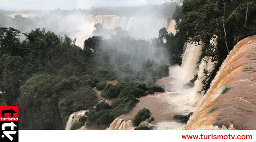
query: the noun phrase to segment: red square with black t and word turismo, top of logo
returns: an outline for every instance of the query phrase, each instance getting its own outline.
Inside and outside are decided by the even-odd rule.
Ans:
[[[0,106],[0,121],[19,121],[19,106]]]

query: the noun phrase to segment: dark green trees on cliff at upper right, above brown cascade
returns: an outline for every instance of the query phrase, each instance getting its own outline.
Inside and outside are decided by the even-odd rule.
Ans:
[[[177,10],[179,11],[179,10]],[[177,24],[183,42],[203,43],[198,64],[205,57],[216,62],[202,80],[205,94],[222,62],[240,40],[256,34],[255,0],[183,0]],[[250,29],[250,30],[249,30]],[[216,45],[210,43],[216,40]]]

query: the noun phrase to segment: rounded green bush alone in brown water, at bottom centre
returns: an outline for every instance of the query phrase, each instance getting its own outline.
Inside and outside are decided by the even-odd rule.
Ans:
[[[148,109],[146,109],[146,108],[143,108],[133,118],[133,125],[134,126],[138,126],[142,121],[145,121],[150,116],[151,116],[150,111]]]

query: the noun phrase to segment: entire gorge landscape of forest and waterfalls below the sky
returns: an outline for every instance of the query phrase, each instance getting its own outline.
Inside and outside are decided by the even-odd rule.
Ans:
[[[24,130],[256,130],[255,1],[181,1],[0,10],[0,105]]]

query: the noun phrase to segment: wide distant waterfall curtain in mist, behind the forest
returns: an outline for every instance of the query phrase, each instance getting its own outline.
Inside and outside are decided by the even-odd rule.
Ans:
[[[169,29],[169,32],[172,32],[173,34],[176,33],[174,28],[176,24],[175,21],[169,21],[168,18],[159,19],[151,16],[121,17],[116,15],[87,15],[86,21],[93,24],[101,23],[103,28],[106,29],[122,27],[123,30],[130,31],[130,36],[138,38],[151,39],[158,37],[158,32],[161,28]]]

